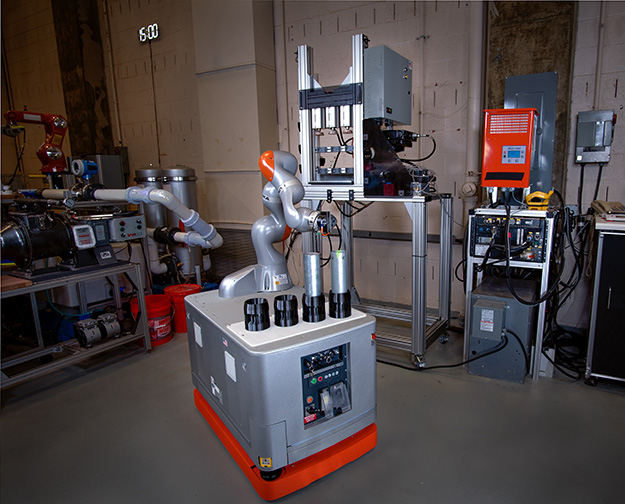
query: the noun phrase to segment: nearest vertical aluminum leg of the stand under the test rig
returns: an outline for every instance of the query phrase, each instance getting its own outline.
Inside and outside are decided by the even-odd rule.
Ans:
[[[427,207],[419,196],[406,203],[412,217],[412,343],[411,353],[417,365],[423,365],[426,347],[427,307]]]

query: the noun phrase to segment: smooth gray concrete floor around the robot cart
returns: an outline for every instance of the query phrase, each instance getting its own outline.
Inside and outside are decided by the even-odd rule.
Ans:
[[[452,334],[427,363],[461,354]],[[3,391],[2,504],[264,502],[193,405],[186,337]],[[378,445],[279,502],[620,503],[625,387],[377,365]]]

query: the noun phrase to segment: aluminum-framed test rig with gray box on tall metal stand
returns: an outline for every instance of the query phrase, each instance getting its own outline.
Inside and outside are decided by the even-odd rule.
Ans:
[[[364,34],[352,35],[351,67],[338,85],[322,86],[313,68],[313,48],[298,47],[298,107],[301,181],[305,204],[342,202],[341,241],[347,259],[347,284],[359,309],[412,323],[410,338],[379,334],[378,344],[410,352],[415,366],[448,327],[451,291],[453,198],[438,193],[435,174],[421,163],[436,151],[428,134],[402,129],[412,115],[412,62],[386,46],[370,46]],[[419,159],[399,154],[423,142]],[[431,146],[431,147],[428,147]],[[427,315],[427,203],[441,205],[439,306]],[[412,302],[409,310],[359,304],[354,285],[352,201],[403,203],[412,220]],[[304,251],[318,250],[304,240]]]

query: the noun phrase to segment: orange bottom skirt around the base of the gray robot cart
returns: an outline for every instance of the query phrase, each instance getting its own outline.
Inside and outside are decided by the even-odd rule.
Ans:
[[[234,458],[247,479],[250,480],[258,495],[268,501],[279,499],[300,488],[304,488],[313,481],[323,478],[327,474],[356,460],[372,450],[377,444],[378,429],[375,424],[371,424],[334,446],[330,446],[294,464],[288,464],[284,467],[280,477],[267,481],[261,477],[260,470],[202,397],[202,394],[195,389],[193,396],[195,398],[195,406],[212,427],[228,452],[230,452],[230,455]]]

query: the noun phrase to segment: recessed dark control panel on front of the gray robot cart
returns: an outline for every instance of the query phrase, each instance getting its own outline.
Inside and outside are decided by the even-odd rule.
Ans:
[[[302,357],[304,425],[345,413],[351,409],[348,345],[340,345]]]

